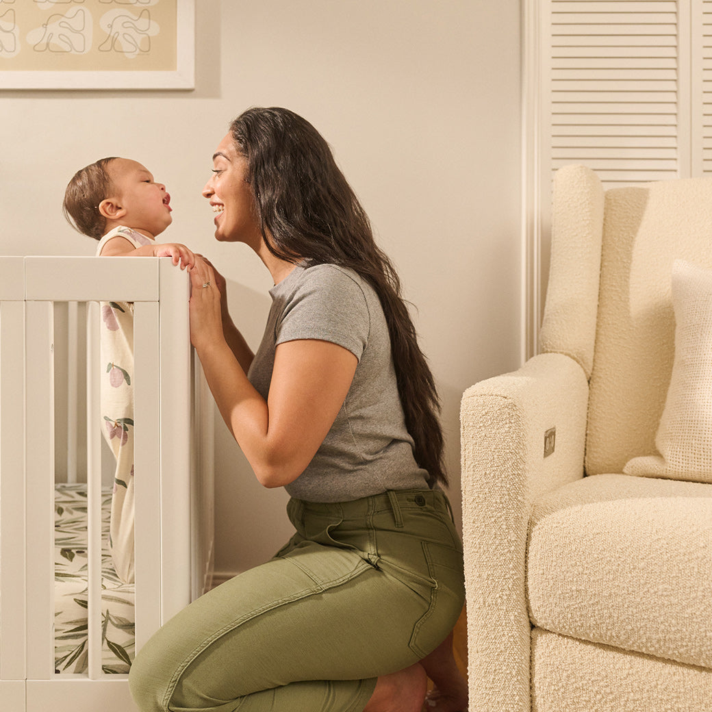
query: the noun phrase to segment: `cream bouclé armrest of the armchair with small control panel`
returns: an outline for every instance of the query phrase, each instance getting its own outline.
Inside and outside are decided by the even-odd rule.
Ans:
[[[525,595],[534,498],[583,476],[588,382],[562,354],[479,382],[461,404],[471,711],[530,709]],[[553,452],[545,456],[545,441]]]

